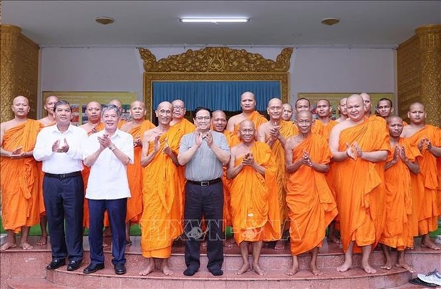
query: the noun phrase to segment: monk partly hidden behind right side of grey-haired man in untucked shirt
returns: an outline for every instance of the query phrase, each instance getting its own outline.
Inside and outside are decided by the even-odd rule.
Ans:
[[[130,104],[130,115],[132,120],[121,126],[123,132],[128,132],[133,137],[134,163],[127,164],[127,177],[129,179],[130,194],[132,197],[127,199],[126,216],[126,243],[131,244],[130,224],[139,223],[142,216],[142,166],[141,150],[144,132],[154,128],[154,124],[149,120],[144,120],[146,110],[144,103],[135,100]]]

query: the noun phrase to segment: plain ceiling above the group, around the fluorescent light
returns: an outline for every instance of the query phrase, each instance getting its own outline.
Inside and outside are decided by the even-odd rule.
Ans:
[[[3,23],[41,46],[396,46],[441,23],[441,1],[1,1]],[[115,19],[112,25],[97,16]],[[181,23],[246,16],[249,23]],[[324,26],[326,17],[338,17]]]

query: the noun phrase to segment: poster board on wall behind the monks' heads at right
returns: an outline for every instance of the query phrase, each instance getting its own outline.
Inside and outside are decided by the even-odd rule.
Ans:
[[[337,110],[337,105],[339,105],[339,101],[341,98],[347,98],[349,95],[352,95],[354,93],[297,93],[297,99],[299,98],[307,98],[311,102],[311,112],[314,118],[318,119],[319,116],[316,113],[316,105],[317,100],[320,100],[322,98],[326,98],[326,100],[329,100],[332,106],[332,114],[331,119],[336,120],[339,118],[339,112]],[[395,96],[393,93],[368,93],[371,95],[372,100],[372,110],[371,113],[375,114],[375,107],[378,103],[378,100],[381,100],[381,98],[388,98],[392,100],[392,103],[395,104]]]

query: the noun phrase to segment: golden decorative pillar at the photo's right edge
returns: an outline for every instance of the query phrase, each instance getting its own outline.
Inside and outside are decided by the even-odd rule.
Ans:
[[[427,123],[441,126],[441,24],[417,28],[420,44],[421,100]]]

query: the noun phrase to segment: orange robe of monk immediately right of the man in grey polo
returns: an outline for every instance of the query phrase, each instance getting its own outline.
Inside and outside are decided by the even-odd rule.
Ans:
[[[231,215],[238,244],[281,237],[275,157],[264,142],[255,142],[251,152],[255,162],[265,168],[265,177],[245,166],[231,182]],[[236,159],[235,165],[242,159]]]

